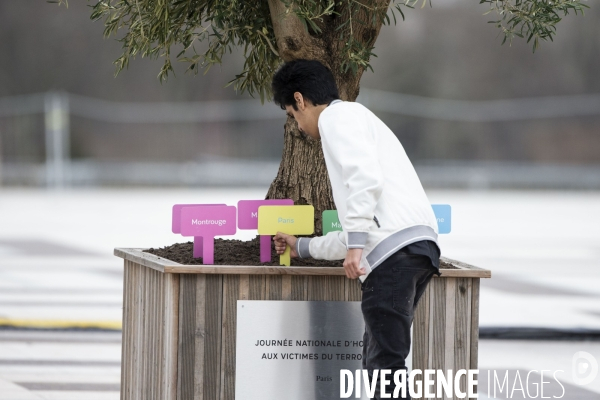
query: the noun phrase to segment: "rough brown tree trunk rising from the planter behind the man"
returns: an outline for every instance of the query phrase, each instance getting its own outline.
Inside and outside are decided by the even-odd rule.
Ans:
[[[371,3],[387,9],[389,0]],[[326,17],[320,25],[320,34],[308,32],[302,22],[293,14],[286,14],[282,0],[269,0],[271,18],[277,49],[284,61],[312,59],[329,67],[336,80],[340,97],[345,101],[355,101],[358,97],[360,78],[363,69],[356,74],[350,70],[341,72],[343,41],[335,31],[341,21],[348,18],[350,10],[340,8],[339,15]],[[373,46],[381,23],[374,26],[358,26],[352,36],[368,46]],[[282,112],[283,115],[283,112]],[[283,155],[277,177],[271,183],[267,199],[288,198],[295,204],[311,204],[315,207],[315,234],[322,234],[322,213],[334,210],[331,183],[321,148],[321,141],[300,133],[296,121],[289,118],[284,125]]]

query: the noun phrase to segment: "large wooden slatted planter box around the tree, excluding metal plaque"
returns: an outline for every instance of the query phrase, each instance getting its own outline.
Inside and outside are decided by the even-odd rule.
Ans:
[[[237,300],[360,301],[343,268],[182,265],[115,249],[125,260],[122,400],[233,400]],[[476,369],[479,279],[442,259],[413,325],[413,369]],[[464,377],[463,377],[464,378]]]

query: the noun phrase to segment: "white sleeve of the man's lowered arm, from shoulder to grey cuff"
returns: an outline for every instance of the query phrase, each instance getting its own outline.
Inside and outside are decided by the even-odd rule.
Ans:
[[[363,112],[340,113],[332,109],[319,118],[323,150],[342,169],[350,194],[342,222],[348,249],[365,247],[374,224],[375,207],[383,191],[383,173],[375,138]]]

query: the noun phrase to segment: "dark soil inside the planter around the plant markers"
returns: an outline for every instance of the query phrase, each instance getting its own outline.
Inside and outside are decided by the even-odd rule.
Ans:
[[[175,243],[159,249],[148,249],[146,253],[175,261],[179,264],[202,265],[202,258],[193,257],[193,242]],[[292,258],[293,267],[341,267],[343,260],[327,261],[312,258]],[[259,236],[244,242],[235,239],[215,239],[215,265],[269,265],[279,266],[279,255],[271,247],[271,262],[260,262]],[[440,268],[454,269],[451,264],[440,260]]]

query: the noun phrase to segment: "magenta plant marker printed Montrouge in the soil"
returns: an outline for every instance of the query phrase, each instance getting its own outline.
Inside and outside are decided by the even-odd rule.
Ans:
[[[181,234],[202,237],[202,263],[214,264],[215,236],[235,235],[236,208],[234,206],[191,206],[181,209]],[[196,245],[194,240],[194,246]],[[194,249],[194,254],[198,249]]]

